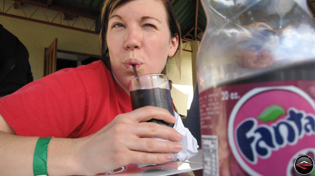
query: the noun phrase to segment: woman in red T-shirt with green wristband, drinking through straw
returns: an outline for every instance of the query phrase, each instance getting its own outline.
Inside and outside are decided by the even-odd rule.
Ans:
[[[96,175],[129,163],[167,163],[167,153],[181,150],[173,128],[139,123],[175,118],[151,106],[131,111],[128,90],[133,64],[139,75],[162,72],[181,51],[170,2],[107,0],[102,16],[102,55],[107,46],[111,71],[101,61],[64,69],[0,99],[0,175]],[[45,159],[37,163],[44,145],[32,136],[55,137],[45,143],[47,169]]]

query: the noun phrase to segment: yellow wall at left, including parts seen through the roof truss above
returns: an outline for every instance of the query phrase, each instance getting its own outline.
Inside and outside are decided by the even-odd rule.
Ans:
[[[12,15],[31,17],[42,21],[60,24],[72,25],[75,20],[66,21],[60,18],[59,12],[45,8],[37,9],[36,6],[24,4],[22,9],[14,9],[12,7],[14,1],[0,0],[1,11]],[[4,9],[3,9],[3,4]],[[44,11],[44,13],[43,13]],[[56,18],[55,18],[56,17]],[[47,19],[46,19],[47,18]],[[61,20],[60,20],[61,19]],[[94,20],[84,19],[87,26],[92,26]],[[66,51],[81,52],[87,54],[100,55],[99,38],[96,34],[80,32],[72,29],[55,27],[47,24],[14,19],[10,17],[0,16],[0,24],[17,36],[19,40],[26,46],[29,52],[29,61],[34,80],[43,77],[44,70],[44,49],[49,47],[55,38],[58,38],[58,49]],[[80,17],[73,27],[82,28],[84,26]]]

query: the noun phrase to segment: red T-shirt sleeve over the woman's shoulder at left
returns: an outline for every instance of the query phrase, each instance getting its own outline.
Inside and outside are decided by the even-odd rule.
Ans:
[[[20,136],[67,137],[84,121],[86,93],[73,71],[36,80],[0,99],[0,114]]]

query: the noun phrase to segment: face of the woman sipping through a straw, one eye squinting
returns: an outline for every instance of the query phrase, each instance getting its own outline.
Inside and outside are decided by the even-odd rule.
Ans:
[[[106,41],[112,73],[129,93],[129,80],[138,75],[161,73],[168,56],[173,56],[178,36],[171,40],[167,15],[160,0],[131,0],[110,15]]]

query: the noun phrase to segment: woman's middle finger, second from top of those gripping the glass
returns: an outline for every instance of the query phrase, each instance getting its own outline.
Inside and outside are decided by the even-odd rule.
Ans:
[[[183,138],[183,136],[174,128],[153,122],[137,124],[137,126],[133,129],[133,132],[136,136],[140,137],[159,137],[170,141],[180,141]]]

